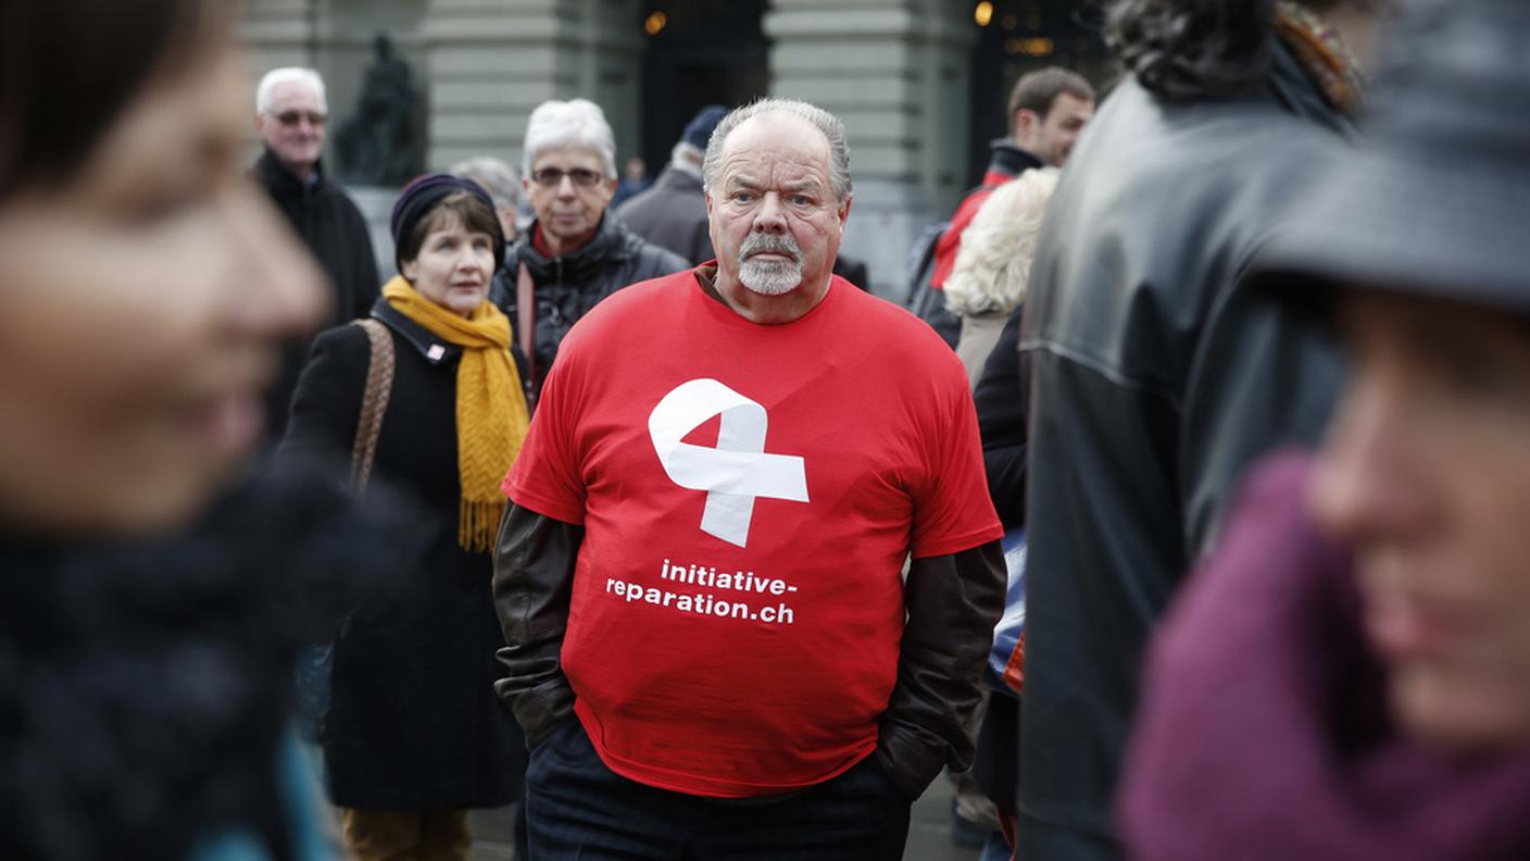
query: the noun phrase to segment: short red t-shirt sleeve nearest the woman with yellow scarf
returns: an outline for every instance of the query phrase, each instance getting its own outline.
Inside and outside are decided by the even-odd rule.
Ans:
[[[526,443],[502,490],[509,501],[557,521],[584,524],[584,476],[578,457],[578,362],[565,351],[542,385]]]

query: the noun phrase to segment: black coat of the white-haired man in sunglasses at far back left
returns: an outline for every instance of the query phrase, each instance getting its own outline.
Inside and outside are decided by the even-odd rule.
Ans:
[[[335,288],[329,325],[338,326],[367,316],[381,282],[372,256],[372,234],[361,210],[324,178],[321,167],[315,170],[318,179],[304,184],[266,150],[256,162],[254,176],[329,276]],[[288,404],[311,343],[311,339],[297,339],[283,349],[280,375],[266,394],[266,434],[271,440],[280,440],[286,427]]]

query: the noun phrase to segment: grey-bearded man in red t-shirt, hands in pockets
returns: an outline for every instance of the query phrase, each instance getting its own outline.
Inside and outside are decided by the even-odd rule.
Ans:
[[[704,173],[718,260],[574,326],[505,481],[531,853],[895,859],[1004,604],[965,375],[831,274],[838,119],[734,110]]]

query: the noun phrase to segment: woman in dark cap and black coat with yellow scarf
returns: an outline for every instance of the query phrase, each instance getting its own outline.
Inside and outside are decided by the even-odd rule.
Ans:
[[[419,562],[341,627],[321,742],[361,861],[465,859],[467,810],[517,800],[525,771],[525,742],[494,694],[503,640],[490,550],[528,412],[509,322],[488,302],[505,248],[488,193],[422,176],[399,196],[392,228],[399,274],[372,319],[395,369],[370,484],[418,506],[418,533],[399,538]],[[370,357],[356,325],[315,340],[283,457],[352,457]]]

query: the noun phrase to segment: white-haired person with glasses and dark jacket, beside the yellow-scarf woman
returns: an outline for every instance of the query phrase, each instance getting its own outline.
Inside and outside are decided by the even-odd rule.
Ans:
[[[600,106],[545,101],[526,123],[522,187],[536,221],[505,256],[491,299],[531,365],[532,398],[575,320],[617,290],[688,268],[606,210],[617,193],[617,141]]]

